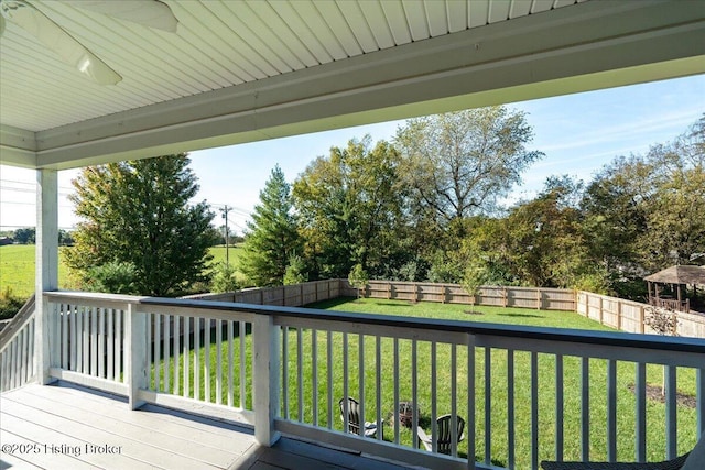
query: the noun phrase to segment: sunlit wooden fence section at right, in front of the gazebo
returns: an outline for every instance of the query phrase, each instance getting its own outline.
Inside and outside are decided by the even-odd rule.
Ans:
[[[585,317],[628,332],[654,334],[644,323],[649,305],[579,291],[576,311]],[[679,336],[705,338],[705,315],[676,311]]]

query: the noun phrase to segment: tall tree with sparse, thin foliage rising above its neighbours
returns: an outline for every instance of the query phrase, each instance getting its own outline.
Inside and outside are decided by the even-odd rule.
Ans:
[[[447,225],[491,211],[521,182],[521,173],[543,156],[525,149],[532,139],[523,112],[490,107],[411,119],[394,143],[416,198]]]

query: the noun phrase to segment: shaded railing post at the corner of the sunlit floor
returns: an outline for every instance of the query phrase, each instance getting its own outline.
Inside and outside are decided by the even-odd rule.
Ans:
[[[252,324],[254,439],[265,447],[273,446],[280,437],[274,429],[279,415],[279,330],[269,315],[258,316]]]

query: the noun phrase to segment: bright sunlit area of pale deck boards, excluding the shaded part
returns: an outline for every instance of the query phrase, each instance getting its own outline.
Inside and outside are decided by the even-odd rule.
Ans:
[[[18,468],[17,460],[48,469],[228,469],[254,446],[247,428],[160,407],[131,412],[120,400],[79,389],[28,385],[0,400],[2,444],[37,446],[8,458],[3,452],[6,466],[14,459]]]

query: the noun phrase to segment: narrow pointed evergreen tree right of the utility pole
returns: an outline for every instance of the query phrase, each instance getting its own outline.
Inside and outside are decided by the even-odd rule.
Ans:
[[[282,285],[291,256],[301,252],[301,239],[291,188],[279,165],[260,192],[260,204],[247,226],[240,270],[257,286]]]

